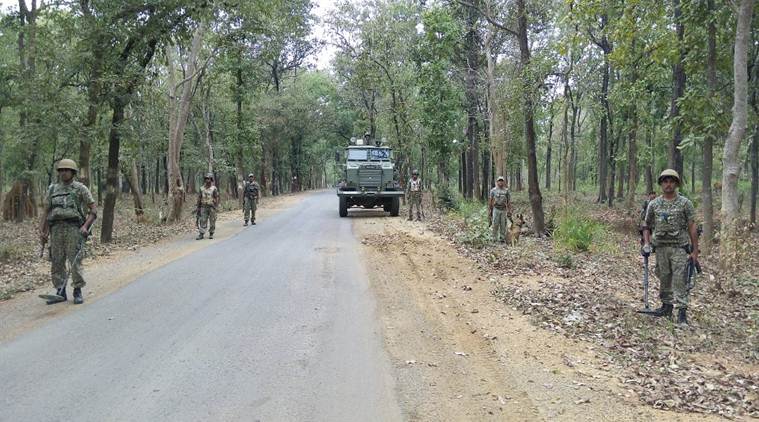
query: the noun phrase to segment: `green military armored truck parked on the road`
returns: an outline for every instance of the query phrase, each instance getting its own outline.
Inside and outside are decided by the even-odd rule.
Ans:
[[[381,206],[385,212],[397,217],[403,190],[398,183],[393,163],[393,150],[367,137],[351,139],[345,149],[343,180],[338,184],[340,217],[348,216],[348,208],[374,208]]]

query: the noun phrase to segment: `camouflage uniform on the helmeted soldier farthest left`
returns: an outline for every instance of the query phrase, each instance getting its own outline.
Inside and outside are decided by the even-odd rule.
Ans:
[[[95,200],[87,186],[72,181],[51,185],[47,192],[46,202],[50,207],[47,221],[50,225],[53,286],[56,289],[63,287],[67,277],[66,261],[68,261],[72,287],[82,288],[86,284],[81,267],[82,253],[79,253],[78,257],[77,253],[84,247],[84,238],[79,230],[89,213],[89,206],[94,204]]]

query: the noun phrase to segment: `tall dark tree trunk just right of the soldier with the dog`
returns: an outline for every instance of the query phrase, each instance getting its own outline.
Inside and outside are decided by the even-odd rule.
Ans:
[[[524,104],[525,140],[527,141],[527,184],[530,192],[533,230],[538,236],[545,232],[543,215],[543,196],[540,194],[538,179],[538,159],[536,152],[536,136],[534,121],[534,106],[532,101],[532,82],[530,75],[530,44],[527,38],[527,8],[525,0],[517,0],[517,38],[519,39],[519,55],[522,70],[522,101]]]

